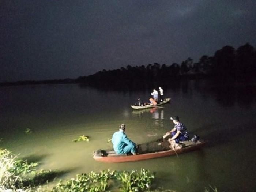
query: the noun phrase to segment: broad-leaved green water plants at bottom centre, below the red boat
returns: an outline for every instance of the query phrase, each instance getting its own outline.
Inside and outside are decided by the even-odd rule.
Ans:
[[[140,172],[132,170],[131,172],[117,170],[101,171],[99,173],[90,172],[87,174],[78,174],[75,179],[68,180],[65,184],[60,181],[54,188],[53,192],[101,192],[110,187],[110,180],[119,181],[120,191],[135,192],[146,191],[150,189],[154,174],[148,170],[142,169]]]

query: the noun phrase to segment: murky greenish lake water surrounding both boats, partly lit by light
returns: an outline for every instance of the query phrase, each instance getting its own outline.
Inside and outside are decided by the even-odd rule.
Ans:
[[[163,87],[164,88],[164,87]],[[172,98],[164,108],[133,110],[136,97],[144,101],[151,90],[102,91],[78,84],[0,87],[1,147],[40,162],[42,169],[67,172],[60,178],[105,169],[146,168],[156,172],[157,186],[177,192],[255,191],[256,99],[251,88],[205,88],[203,82],[164,89]],[[127,163],[94,161],[93,151],[111,148],[107,140],[127,125],[136,143],[162,136],[178,115],[191,134],[207,139],[202,150],[172,157]],[[32,133],[26,134],[29,128]],[[89,142],[72,142],[80,135]]]

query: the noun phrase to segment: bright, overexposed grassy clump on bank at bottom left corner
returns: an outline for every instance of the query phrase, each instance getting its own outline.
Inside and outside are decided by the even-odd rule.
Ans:
[[[37,170],[38,163],[29,163],[7,149],[0,149],[0,191],[35,191],[37,186],[52,181],[61,172]]]

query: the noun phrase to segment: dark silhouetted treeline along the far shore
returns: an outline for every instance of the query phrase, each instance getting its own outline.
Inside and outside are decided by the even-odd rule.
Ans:
[[[76,79],[24,80],[17,82],[1,82],[0,86],[35,85],[35,84],[82,84],[91,87],[114,87],[129,89],[162,84],[167,87],[169,82],[187,79],[211,79],[215,82],[241,86],[256,86],[256,49],[246,43],[237,49],[224,46],[213,56],[203,55],[198,62],[188,57],[181,64],[148,64],[126,68],[96,72],[89,76]]]

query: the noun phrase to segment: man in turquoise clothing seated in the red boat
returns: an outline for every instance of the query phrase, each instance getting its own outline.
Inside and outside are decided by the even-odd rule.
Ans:
[[[133,155],[137,154],[137,145],[128,139],[125,132],[125,124],[119,126],[119,131],[115,132],[112,136],[112,143],[114,151],[117,154],[126,154],[132,153]]]

